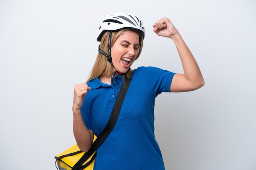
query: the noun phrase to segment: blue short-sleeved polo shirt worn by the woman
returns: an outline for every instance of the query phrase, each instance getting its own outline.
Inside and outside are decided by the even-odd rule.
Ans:
[[[170,92],[175,73],[155,67],[139,67],[124,99],[117,123],[97,150],[94,170],[164,170],[164,162],[154,135],[155,98]],[[81,108],[88,129],[99,135],[105,128],[123,83],[119,74],[113,85],[99,78],[89,81],[92,88]]]

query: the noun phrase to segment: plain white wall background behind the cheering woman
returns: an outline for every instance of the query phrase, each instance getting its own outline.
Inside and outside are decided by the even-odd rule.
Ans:
[[[255,9],[254,0],[0,0],[0,169],[56,169],[75,144],[73,86],[88,78],[99,22],[123,11],[146,28],[133,69],[183,72],[171,39],[153,32],[168,17],[204,76],[201,89],[156,99],[166,170],[255,170]]]

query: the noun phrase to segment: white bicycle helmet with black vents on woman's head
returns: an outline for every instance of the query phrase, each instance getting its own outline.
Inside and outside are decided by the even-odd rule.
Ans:
[[[142,35],[143,39],[145,37],[145,28],[143,27],[143,22],[130,13],[112,13],[105,18],[99,26],[97,41],[101,41],[101,37],[106,31],[119,31],[121,29],[130,29]]]

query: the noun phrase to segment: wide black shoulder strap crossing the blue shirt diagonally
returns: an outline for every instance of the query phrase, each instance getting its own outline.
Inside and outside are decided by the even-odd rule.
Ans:
[[[105,139],[108,137],[108,135],[110,134],[110,132],[114,128],[114,126],[117,122],[121,107],[123,105],[124,98],[125,98],[126,93],[128,91],[128,87],[130,86],[130,82],[131,82],[130,78],[126,78],[124,80],[124,82],[121,86],[121,89],[119,91],[119,94],[117,96],[117,100],[115,102],[115,105],[114,105],[114,108],[112,110],[112,113],[111,113],[111,116],[110,116],[110,119],[108,121],[107,126],[105,127],[105,129],[103,129],[101,134],[99,134],[97,139],[95,139],[95,141],[92,143],[92,147],[90,148],[90,150],[88,150],[88,152],[84,153],[84,155],[79,159],[79,161],[76,162],[76,164],[74,165],[72,170],[79,170],[79,168],[81,168],[83,163],[87,159],[89,159],[90,156],[92,156],[92,154],[94,154],[97,151],[97,149],[101,146],[101,144],[105,141]]]

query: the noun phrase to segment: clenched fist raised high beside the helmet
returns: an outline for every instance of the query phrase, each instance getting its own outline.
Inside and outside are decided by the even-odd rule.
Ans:
[[[166,17],[163,17],[157,22],[155,22],[155,24],[153,24],[153,28],[154,28],[153,31],[157,35],[162,37],[172,38],[173,35],[175,35],[178,32],[175,26]]]

